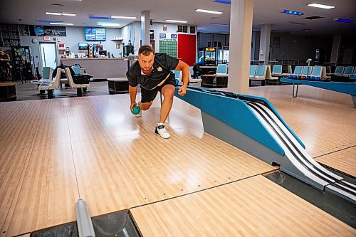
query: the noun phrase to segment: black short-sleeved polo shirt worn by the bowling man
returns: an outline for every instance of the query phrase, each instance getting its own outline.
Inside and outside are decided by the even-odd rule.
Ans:
[[[167,80],[174,80],[174,73],[171,70],[177,68],[178,63],[179,60],[177,58],[172,58],[166,53],[155,53],[155,61],[150,75],[142,75],[140,64],[136,61],[127,70],[126,76],[131,86],[135,87],[140,84],[142,88],[151,90],[164,80],[167,75],[169,75]]]

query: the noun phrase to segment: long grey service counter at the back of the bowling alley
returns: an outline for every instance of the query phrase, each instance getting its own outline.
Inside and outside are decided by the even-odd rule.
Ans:
[[[127,58],[61,58],[64,65],[78,63],[94,80],[126,77]]]

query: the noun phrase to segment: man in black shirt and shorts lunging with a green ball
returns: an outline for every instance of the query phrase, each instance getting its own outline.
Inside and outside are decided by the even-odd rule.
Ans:
[[[136,94],[137,85],[141,85],[141,101],[138,102],[141,110],[148,110],[153,100],[159,92],[162,93],[164,100],[161,107],[161,115],[156,125],[155,132],[162,138],[169,138],[164,122],[167,120],[173,105],[175,91],[175,78],[171,70],[182,70],[183,85],[179,88],[179,95],[187,93],[189,81],[189,66],[182,60],[172,58],[166,53],[154,53],[151,46],[142,46],[138,51],[137,62],[127,71],[130,91],[130,110],[137,105]],[[142,112],[136,115],[141,117]]]

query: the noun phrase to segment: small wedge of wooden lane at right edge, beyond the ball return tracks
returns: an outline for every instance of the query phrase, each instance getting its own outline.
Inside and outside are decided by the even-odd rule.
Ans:
[[[320,164],[325,164],[327,167],[332,167],[340,172],[356,177],[356,146],[325,154],[315,160]]]

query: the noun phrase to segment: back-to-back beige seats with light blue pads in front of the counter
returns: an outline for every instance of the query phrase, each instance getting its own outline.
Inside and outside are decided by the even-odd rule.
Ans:
[[[51,76],[52,75],[51,72],[53,71],[53,69],[52,70],[51,69],[48,70],[48,73],[47,73],[47,69],[45,70],[43,68],[43,78],[45,77],[45,75],[49,75],[49,76],[48,76],[48,79],[41,79],[41,85],[38,86],[38,90],[47,90],[48,98],[53,98],[53,90],[61,87],[61,73],[63,70],[61,68],[58,68],[57,73],[56,73],[56,78],[55,78],[55,80],[53,80],[53,78]],[[72,69],[75,74],[80,74],[79,66],[73,66]],[[70,88],[77,89],[77,96],[82,96],[82,89],[86,90],[86,88],[90,87],[89,84],[75,84],[69,68],[65,68],[64,72],[66,73],[66,78],[68,79],[68,84],[69,84]]]

